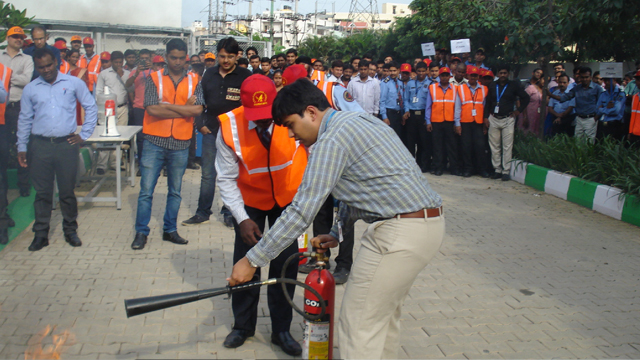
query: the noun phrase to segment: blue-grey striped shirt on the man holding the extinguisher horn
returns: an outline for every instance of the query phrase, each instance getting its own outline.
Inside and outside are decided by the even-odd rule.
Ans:
[[[342,202],[343,223],[372,223],[442,204],[391,127],[369,114],[329,110],[296,196],[247,252],[249,261],[263,267],[275,259],[311,225],[329,194]],[[348,219],[342,216],[347,212]]]

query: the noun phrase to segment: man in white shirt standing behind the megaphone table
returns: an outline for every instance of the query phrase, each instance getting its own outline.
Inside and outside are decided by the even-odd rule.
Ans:
[[[129,79],[131,72],[124,69],[124,54],[121,51],[114,51],[111,53],[111,67],[101,71],[98,74],[98,80],[96,81],[96,87],[93,91],[96,102],[99,96],[104,94],[104,87],[109,88],[109,93],[116,95],[116,116],[117,125],[125,126],[129,122],[129,107],[128,100],[129,94],[125,86],[125,82]],[[98,114],[100,125],[105,125],[104,114]],[[113,151],[101,151],[98,157],[98,164],[96,165],[96,173],[98,175],[104,175],[107,169],[107,160],[111,159],[110,166],[115,169],[116,158]]]

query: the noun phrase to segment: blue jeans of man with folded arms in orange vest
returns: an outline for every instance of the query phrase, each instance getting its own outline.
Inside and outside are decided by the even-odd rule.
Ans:
[[[180,210],[180,190],[182,188],[182,176],[187,169],[189,148],[184,150],[168,150],[144,141],[144,152],[140,164],[140,195],[138,196],[138,211],[136,213],[136,232],[149,235],[149,220],[151,220],[151,203],[153,191],[160,177],[163,166],[167,168],[167,207],[164,212],[164,226],[162,230],[167,233],[177,231],[178,210]]]

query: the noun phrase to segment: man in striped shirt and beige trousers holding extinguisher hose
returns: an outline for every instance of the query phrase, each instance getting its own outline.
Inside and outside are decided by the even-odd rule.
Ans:
[[[442,199],[393,129],[363,113],[335,111],[304,79],[285,86],[273,104],[274,121],[310,150],[291,205],[233,267],[229,284],[252,279],[296,240],[332,194],[340,217],[368,224],[353,264],[340,314],[342,358],[397,358],[400,310],[420,271],[444,237]],[[339,244],[340,222],[331,234],[311,240],[324,252]]]

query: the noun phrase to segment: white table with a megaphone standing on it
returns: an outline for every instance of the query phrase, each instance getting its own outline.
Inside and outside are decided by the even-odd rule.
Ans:
[[[118,126],[118,133],[120,136],[100,136],[104,132],[104,126],[97,125],[95,130],[93,131],[93,135],[90,138],[85,140],[86,144],[96,144],[97,151],[94,152],[93,160],[92,160],[92,170],[95,169],[95,166],[98,162],[98,153],[100,151],[116,151],[116,196],[115,197],[97,197],[94,196],[102,184],[107,179],[113,179],[113,176],[85,176],[84,179],[88,180],[97,180],[96,185],[87,193],[85,196],[78,196],[79,202],[116,202],[116,208],[118,210],[122,209],[122,170],[120,169],[120,159],[122,158],[122,144],[125,141],[129,141],[131,143],[131,153],[129,154],[129,174],[128,180],[129,184],[133,187],[136,184],[136,160],[135,154],[137,154],[138,149],[136,147],[136,136],[142,131],[142,126]],[[81,127],[78,127],[77,132],[80,132]],[[92,171],[93,173],[93,171]],[[125,180],[126,177],[125,177]]]

